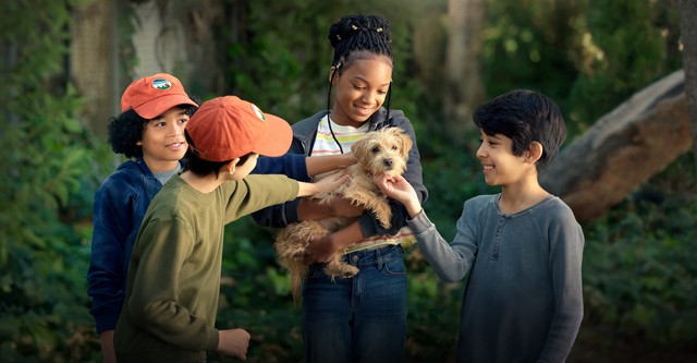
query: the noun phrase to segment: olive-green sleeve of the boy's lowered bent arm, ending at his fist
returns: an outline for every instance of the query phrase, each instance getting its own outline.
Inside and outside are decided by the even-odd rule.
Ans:
[[[138,268],[125,305],[131,320],[174,347],[216,349],[218,330],[180,303],[181,268],[195,245],[192,227],[179,218],[150,220],[140,234],[140,240],[148,243],[137,257]]]

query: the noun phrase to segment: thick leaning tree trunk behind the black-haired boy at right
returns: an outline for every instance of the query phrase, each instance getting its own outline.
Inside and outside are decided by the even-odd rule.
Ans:
[[[602,117],[540,176],[589,221],[690,149],[684,72],[676,71]]]

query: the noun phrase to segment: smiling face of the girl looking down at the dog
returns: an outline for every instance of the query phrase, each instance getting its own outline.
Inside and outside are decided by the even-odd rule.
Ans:
[[[392,62],[388,57],[371,55],[356,58],[335,72],[337,87],[331,119],[340,125],[360,126],[384,104],[392,80]]]

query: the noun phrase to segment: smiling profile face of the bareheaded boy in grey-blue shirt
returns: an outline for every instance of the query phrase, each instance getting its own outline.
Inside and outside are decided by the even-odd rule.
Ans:
[[[530,168],[535,168],[535,164],[526,162],[526,153],[513,155],[513,141],[510,137],[502,134],[491,136],[484,131],[477,158],[481,161],[484,178],[489,185],[516,184],[526,178]]]

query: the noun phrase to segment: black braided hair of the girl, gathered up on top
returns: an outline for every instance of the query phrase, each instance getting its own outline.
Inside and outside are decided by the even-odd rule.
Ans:
[[[331,83],[334,75],[343,72],[355,60],[384,56],[390,59],[394,68],[394,55],[392,53],[392,34],[390,23],[378,15],[346,15],[329,27],[329,41],[334,48],[334,57],[331,61],[332,71],[329,77],[329,95],[327,97],[327,111],[331,105]],[[392,95],[392,82],[388,87],[386,100],[387,120],[390,119],[390,98]]]

